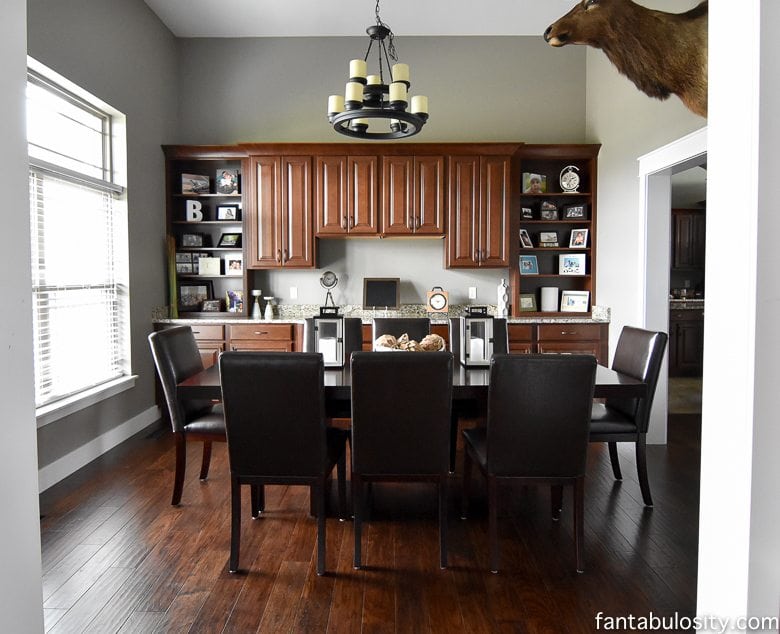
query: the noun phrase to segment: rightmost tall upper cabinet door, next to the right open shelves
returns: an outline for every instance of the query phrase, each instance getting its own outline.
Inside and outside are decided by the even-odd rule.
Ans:
[[[509,157],[481,159],[480,266],[509,266]]]

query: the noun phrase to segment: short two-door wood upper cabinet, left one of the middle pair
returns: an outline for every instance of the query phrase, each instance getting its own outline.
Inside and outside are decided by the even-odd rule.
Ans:
[[[325,155],[314,161],[317,236],[376,235],[377,157]]]

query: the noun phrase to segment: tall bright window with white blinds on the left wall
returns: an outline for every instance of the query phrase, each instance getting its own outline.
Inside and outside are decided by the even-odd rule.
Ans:
[[[36,407],[129,373],[124,190],[112,116],[30,71]]]

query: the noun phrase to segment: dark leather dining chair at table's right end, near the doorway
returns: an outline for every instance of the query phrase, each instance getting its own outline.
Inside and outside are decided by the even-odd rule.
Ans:
[[[611,398],[603,404],[594,403],[591,414],[590,441],[608,444],[612,473],[616,480],[623,479],[616,443],[635,444],[639,488],[646,506],[653,506],[647,477],[647,429],[667,338],[664,332],[625,326],[615,347],[612,369],[644,381],[647,394],[642,398]]]

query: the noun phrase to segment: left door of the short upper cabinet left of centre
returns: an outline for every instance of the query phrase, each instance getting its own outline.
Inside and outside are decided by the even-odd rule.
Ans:
[[[317,235],[347,233],[347,157],[318,156],[314,169]]]

